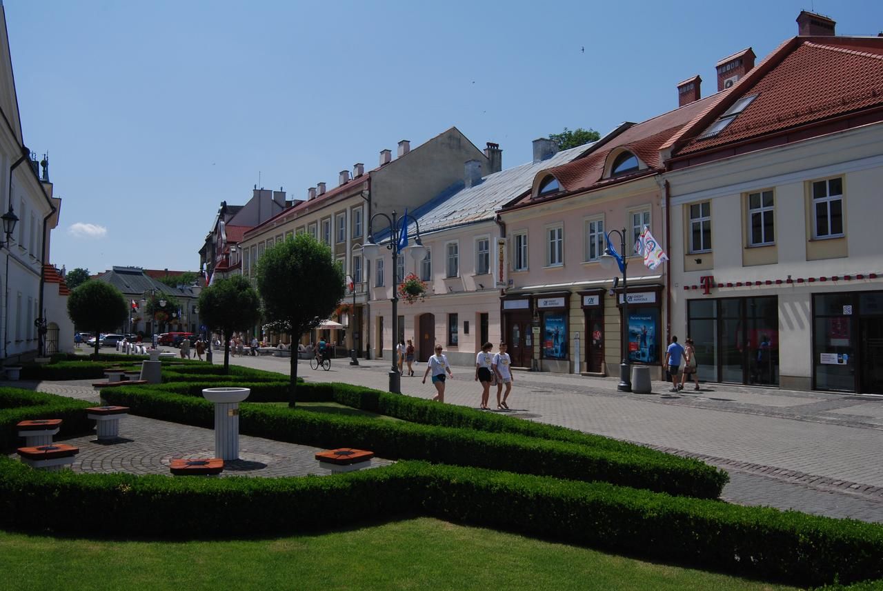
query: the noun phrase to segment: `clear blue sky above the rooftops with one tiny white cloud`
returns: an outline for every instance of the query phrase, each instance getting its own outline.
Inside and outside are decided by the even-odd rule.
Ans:
[[[219,203],[244,204],[259,173],[305,198],[451,125],[508,168],[565,126],[675,108],[694,74],[712,94],[721,57],[759,61],[802,9],[838,34],[883,30],[879,0],[4,6],[25,142],[64,199],[51,262],[92,273],[195,270]]]

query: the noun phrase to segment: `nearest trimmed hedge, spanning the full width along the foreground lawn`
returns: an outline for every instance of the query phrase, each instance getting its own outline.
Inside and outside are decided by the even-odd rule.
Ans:
[[[417,461],[336,476],[212,479],[40,472],[0,458],[4,527],[215,538],[415,514],[797,585],[883,576],[877,524],[609,483]]]

